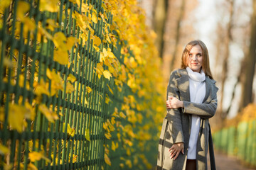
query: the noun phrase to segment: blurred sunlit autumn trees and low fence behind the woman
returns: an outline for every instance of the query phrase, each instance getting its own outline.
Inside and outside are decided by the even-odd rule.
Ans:
[[[193,39],[206,43],[219,88],[218,111],[210,119],[215,149],[255,166],[256,2],[139,0],[139,4],[146,12],[146,24],[158,36],[166,86],[170,72],[181,67],[185,45]]]

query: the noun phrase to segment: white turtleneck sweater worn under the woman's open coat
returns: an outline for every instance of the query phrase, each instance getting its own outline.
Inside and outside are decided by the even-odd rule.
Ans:
[[[193,72],[186,67],[189,77],[190,99],[193,103],[202,103],[206,96],[206,74],[201,70],[200,73]],[[198,141],[198,133],[200,129],[201,118],[198,115],[192,115],[191,135],[188,143],[188,159],[196,159],[196,144]]]

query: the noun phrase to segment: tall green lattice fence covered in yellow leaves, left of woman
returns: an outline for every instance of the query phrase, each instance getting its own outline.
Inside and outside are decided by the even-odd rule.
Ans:
[[[112,28],[110,1],[0,3],[0,169],[151,169],[159,130],[150,107],[161,95],[154,83],[160,100],[117,79],[138,67],[124,64],[136,57]]]

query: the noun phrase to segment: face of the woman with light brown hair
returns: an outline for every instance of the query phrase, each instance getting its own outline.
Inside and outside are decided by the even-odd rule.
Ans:
[[[203,50],[200,45],[194,45],[188,53],[188,67],[193,72],[200,72],[203,64]]]

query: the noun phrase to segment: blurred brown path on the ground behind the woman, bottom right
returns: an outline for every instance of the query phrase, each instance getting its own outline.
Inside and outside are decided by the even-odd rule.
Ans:
[[[236,157],[229,157],[220,152],[214,152],[215,164],[217,170],[253,170],[241,164]],[[210,170],[210,162],[208,161],[208,169]]]

